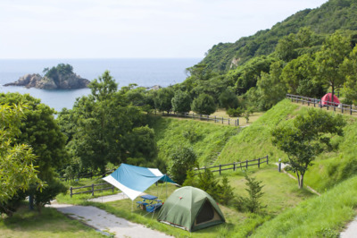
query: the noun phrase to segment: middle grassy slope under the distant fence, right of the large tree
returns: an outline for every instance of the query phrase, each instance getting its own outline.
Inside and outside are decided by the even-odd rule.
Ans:
[[[192,147],[201,166],[205,165],[224,147],[228,138],[237,132],[234,126],[203,123],[194,120],[159,118],[154,124],[159,157],[168,161],[170,153],[179,146]],[[188,140],[185,132],[195,134],[194,141]]]

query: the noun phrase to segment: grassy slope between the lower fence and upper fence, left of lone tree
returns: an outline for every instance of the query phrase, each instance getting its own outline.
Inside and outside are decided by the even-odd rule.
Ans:
[[[284,157],[284,154],[271,144],[270,130],[281,121],[285,121],[289,115],[295,115],[298,107],[288,100],[278,103],[256,122],[232,137],[222,150],[216,164],[228,164],[267,155],[273,161],[277,161],[278,157]]]

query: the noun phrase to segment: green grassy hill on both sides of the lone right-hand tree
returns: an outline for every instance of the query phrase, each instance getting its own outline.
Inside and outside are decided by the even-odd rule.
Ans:
[[[215,164],[228,164],[266,155],[272,162],[277,162],[280,157],[286,158],[285,153],[272,145],[270,131],[279,123],[289,123],[289,119],[295,115],[305,114],[308,108],[287,99],[281,101],[243,132],[228,140]],[[336,136],[332,140],[332,143],[339,144],[338,149],[317,157],[305,175],[305,183],[317,191],[326,191],[357,173],[357,123],[353,116],[345,115],[345,119],[348,122],[345,135]]]

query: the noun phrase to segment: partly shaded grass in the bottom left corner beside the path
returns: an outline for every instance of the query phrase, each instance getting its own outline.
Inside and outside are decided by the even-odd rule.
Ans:
[[[62,215],[54,208],[43,208],[41,214],[20,208],[12,217],[0,218],[1,237],[107,237],[94,229]]]

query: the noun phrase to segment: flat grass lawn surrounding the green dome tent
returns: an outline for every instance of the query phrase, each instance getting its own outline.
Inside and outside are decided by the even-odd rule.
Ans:
[[[157,222],[157,213],[146,213],[137,208],[136,201],[131,200],[117,200],[108,203],[88,202],[90,195],[79,195],[71,197],[69,195],[60,195],[57,200],[59,202],[92,205],[118,216],[129,219],[130,221],[144,224],[147,227],[162,231],[166,234],[174,235],[175,237],[225,237],[236,236],[244,237],[252,234],[257,226],[276,217],[278,214],[286,210],[286,208],[293,208],[298,203],[308,198],[314,197],[310,191],[299,190],[294,180],[289,178],[286,174],[278,173],[276,166],[262,166],[261,169],[249,168],[249,173],[262,181],[264,184],[262,203],[267,205],[267,208],[260,215],[249,213],[242,213],[236,208],[221,206],[220,208],[226,217],[226,224],[215,225],[209,228],[188,233],[187,231],[175,228],[170,225],[164,225]],[[245,179],[243,171],[225,171],[222,174],[228,176],[229,183],[234,187],[234,192],[240,196],[246,196]],[[216,173],[217,177],[220,177]],[[172,184],[159,184],[159,186],[151,186],[147,191],[148,194],[158,196],[161,200],[166,200],[167,196],[175,191],[177,187]],[[167,193],[166,193],[167,192]],[[167,195],[166,195],[167,194]]]

